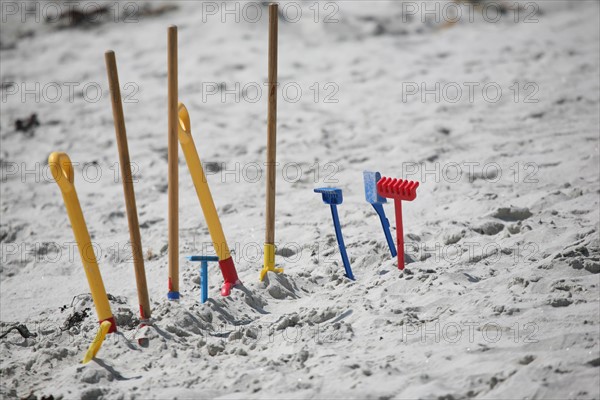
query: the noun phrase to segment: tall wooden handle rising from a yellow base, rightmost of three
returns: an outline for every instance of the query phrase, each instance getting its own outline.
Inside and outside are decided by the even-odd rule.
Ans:
[[[267,113],[267,230],[265,243],[275,244],[275,176],[277,144],[277,4],[269,5],[269,109]]]

